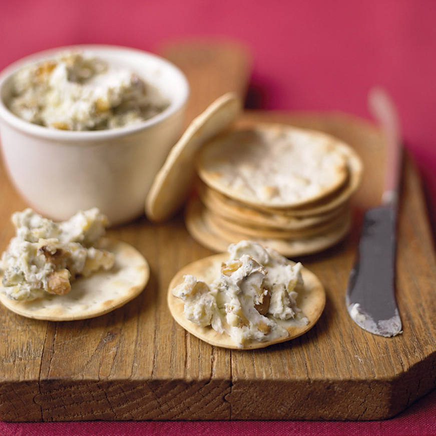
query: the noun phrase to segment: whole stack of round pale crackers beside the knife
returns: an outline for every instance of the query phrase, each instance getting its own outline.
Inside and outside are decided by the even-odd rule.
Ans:
[[[198,242],[225,251],[250,239],[290,257],[324,250],[347,234],[362,164],[329,135],[261,124],[213,138],[196,169],[198,195],[186,225]]]

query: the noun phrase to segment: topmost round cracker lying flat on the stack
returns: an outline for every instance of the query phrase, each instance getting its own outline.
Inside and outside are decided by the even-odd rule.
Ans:
[[[201,180],[240,202],[289,208],[317,201],[347,181],[344,143],[324,133],[279,124],[236,129],[205,144]]]

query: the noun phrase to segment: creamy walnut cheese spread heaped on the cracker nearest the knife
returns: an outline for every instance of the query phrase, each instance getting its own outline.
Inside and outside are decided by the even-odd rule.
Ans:
[[[229,260],[212,283],[187,274],[173,289],[187,319],[227,333],[241,348],[249,340],[287,337],[289,321],[308,324],[295,300],[296,287],[303,284],[301,263],[250,241],[231,244],[228,251]]]

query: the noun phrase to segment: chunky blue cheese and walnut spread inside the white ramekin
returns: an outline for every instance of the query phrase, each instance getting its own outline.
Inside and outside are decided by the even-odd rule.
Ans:
[[[86,131],[134,125],[168,105],[156,87],[134,72],[75,51],[19,70],[8,107],[34,124]]]

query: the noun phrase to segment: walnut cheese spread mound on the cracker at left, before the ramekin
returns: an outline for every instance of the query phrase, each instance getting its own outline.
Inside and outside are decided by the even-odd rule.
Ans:
[[[99,269],[112,268],[113,253],[95,248],[107,218],[97,208],[80,211],[67,221],[53,222],[32,209],[12,215],[16,236],[0,260],[2,291],[14,300],[65,295],[71,281]]]

